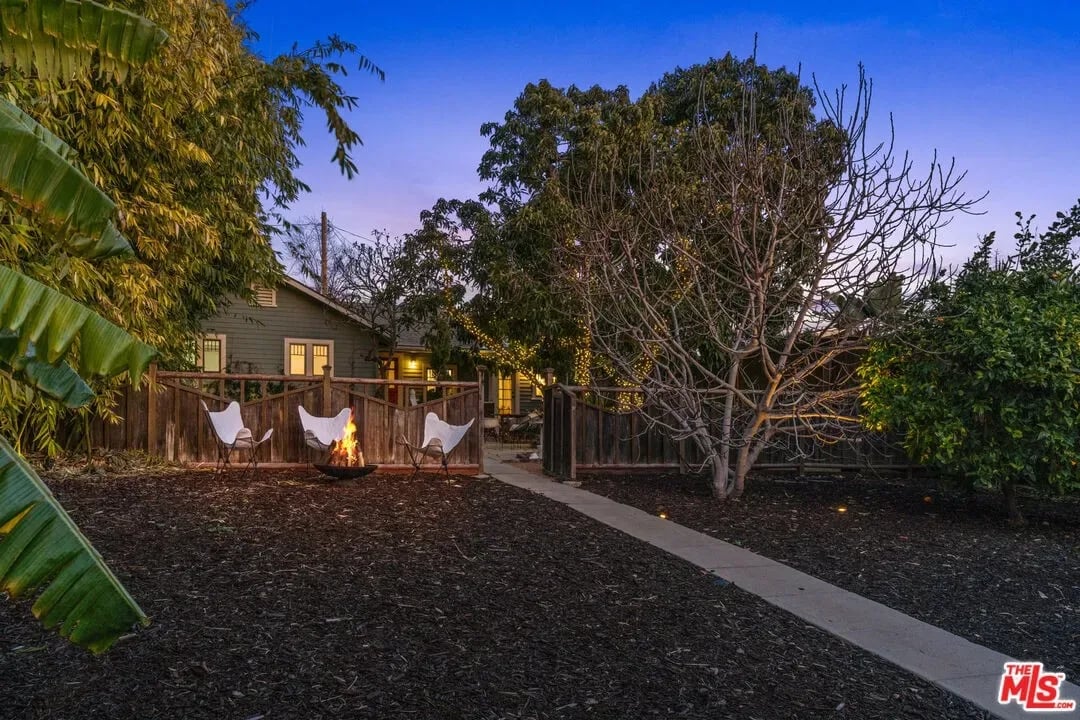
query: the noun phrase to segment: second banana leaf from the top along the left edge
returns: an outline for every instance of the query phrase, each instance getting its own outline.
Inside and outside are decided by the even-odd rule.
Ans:
[[[116,204],[71,164],[70,148],[2,98],[0,147],[0,189],[75,235],[72,252],[89,258],[132,254],[112,225]]]

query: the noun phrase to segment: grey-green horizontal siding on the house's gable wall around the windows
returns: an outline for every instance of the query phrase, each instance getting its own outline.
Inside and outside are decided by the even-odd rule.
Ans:
[[[229,372],[284,373],[285,338],[296,338],[333,340],[337,377],[376,377],[372,331],[288,285],[278,286],[278,307],[252,308],[237,300],[203,329],[226,336]]]

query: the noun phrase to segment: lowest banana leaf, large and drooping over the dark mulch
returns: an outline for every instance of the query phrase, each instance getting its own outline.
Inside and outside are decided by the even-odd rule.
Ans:
[[[33,468],[0,437],[0,588],[44,587],[33,615],[93,652],[149,620]]]

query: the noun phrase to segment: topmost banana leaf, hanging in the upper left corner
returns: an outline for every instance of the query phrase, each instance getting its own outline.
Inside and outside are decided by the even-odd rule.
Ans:
[[[0,0],[0,63],[50,80],[102,71],[123,80],[168,36],[150,21],[90,0]]]

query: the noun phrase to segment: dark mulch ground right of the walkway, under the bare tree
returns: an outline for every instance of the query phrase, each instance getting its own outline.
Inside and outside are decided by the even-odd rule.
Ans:
[[[591,477],[582,487],[1080,679],[1076,501],[1025,499],[1027,526],[1014,529],[998,498],[927,479],[762,476],[729,503],[689,476]]]

